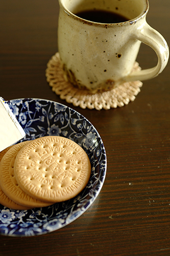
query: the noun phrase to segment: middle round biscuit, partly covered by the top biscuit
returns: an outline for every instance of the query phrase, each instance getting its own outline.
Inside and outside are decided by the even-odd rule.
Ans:
[[[3,156],[0,162],[0,186],[3,192],[16,204],[27,208],[43,207],[50,205],[27,195],[17,184],[14,174],[14,162],[20,149],[28,141],[13,145]]]

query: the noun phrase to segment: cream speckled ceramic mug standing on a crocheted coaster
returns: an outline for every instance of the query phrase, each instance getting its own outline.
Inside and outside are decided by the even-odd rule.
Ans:
[[[169,50],[165,39],[146,22],[148,0],[59,0],[59,4],[58,49],[65,78],[75,86],[92,93],[107,91],[125,81],[153,78],[165,68]],[[105,24],[76,15],[95,9],[128,20]],[[158,63],[132,73],[141,42],[154,49]]]

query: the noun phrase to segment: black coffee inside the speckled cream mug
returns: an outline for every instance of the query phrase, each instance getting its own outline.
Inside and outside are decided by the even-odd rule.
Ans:
[[[120,23],[127,22],[128,18],[105,10],[88,10],[76,13],[80,18],[90,20],[91,22],[98,23]]]

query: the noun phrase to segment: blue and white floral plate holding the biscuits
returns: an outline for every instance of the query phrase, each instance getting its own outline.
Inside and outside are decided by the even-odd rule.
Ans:
[[[25,130],[21,141],[57,135],[78,143],[91,162],[87,186],[73,199],[48,207],[14,210],[0,204],[0,233],[36,236],[57,230],[80,217],[99,195],[106,175],[106,152],[99,133],[77,111],[44,99],[14,99],[8,104]]]

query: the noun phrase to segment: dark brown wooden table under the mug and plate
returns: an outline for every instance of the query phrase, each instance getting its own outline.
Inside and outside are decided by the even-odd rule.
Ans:
[[[0,95],[45,98],[83,114],[100,133],[107,175],[92,206],[69,225],[37,237],[0,237],[0,255],[170,255],[170,65],[143,82],[135,101],[108,111],[61,100],[46,82],[57,52],[57,0],[1,1]],[[170,1],[150,0],[148,23],[170,45]],[[142,68],[156,65],[142,45]]]

